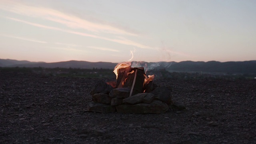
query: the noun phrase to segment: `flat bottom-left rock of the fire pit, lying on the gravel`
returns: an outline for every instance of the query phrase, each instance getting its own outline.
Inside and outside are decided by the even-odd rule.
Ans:
[[[115,106],[111,106],[110,104],[102,104],[98,102],[89,102],[87,106],[88,111],[90,112],[101,112],[101,113],[108,113],[108,112],[115,112]]]

